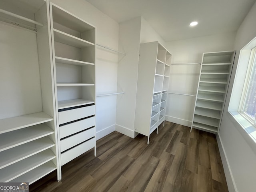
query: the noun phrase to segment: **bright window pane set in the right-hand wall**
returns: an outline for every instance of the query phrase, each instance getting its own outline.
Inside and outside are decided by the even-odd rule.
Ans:
[[[248,63],[246,80],[242,93],[243,98],[240,102],[240,112],[255,124],[256,118],[256,48],[253,48]]]

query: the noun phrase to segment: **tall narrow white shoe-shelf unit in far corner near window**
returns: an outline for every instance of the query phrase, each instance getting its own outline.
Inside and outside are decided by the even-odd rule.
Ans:
[[[218,132],[234,56],[235,51],[203,54],[191,129]]]

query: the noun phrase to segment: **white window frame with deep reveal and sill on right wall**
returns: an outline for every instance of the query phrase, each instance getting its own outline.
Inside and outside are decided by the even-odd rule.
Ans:
[[[238,64],[233,68],[236,70],[230,102],[228,105],[228,114],[232,121],[234,128],[240,132],[242,137],[246,140],[249,146],[256,154],[256,123],[251,118],[242,112],[244,100],[246,99],[246,92],[250,78],[251,67],[250,60],[252,59],[252,50],[256,47],[256,37],[252,39],[239,52]],[[236,56],[237,58],[237,56]],[[235,62],[236,62],[235,58]],[[232,84],[230,83],[230,86]],[[221,126],[221,129],[224,128]],[[220,130],[221,131],[221,130]]]

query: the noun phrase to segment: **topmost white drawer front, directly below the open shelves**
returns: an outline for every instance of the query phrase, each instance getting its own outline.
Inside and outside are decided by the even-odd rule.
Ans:
[[[95,114],[95,105],[59,112],[59,124],[78,120]]]

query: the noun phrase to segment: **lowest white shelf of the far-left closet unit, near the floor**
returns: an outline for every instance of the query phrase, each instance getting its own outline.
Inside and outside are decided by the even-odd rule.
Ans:
[[[45,164],[42,164],[41,166],[31,170],[30,172],[27,172],[26,174],[23,174],[22,176],[15,178],[11,182],[20,182],[20,181],[26,181],[29,182],[29,184],[34,183],[38,179],[46,176],[50,172],[53,172],[56,170],[56,166],[52,161],[49,161]]]

